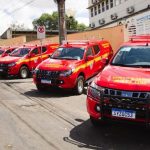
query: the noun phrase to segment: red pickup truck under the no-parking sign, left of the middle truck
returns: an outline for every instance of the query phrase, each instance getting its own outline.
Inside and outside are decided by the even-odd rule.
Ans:
[[[58,44],[19,47],[9,56],[0,58],[0,75],[19,75],[21,78],[27,78],[30,72],[47,59],[57,47]]]

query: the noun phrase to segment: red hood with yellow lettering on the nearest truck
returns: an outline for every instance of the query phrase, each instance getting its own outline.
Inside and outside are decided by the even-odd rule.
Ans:
[[[131,91],[150,91],[150,68],[107,66],[96,78],[102,87]]]

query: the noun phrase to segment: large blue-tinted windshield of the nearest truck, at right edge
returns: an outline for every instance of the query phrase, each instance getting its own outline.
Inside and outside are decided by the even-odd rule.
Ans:
[[[150,67],[150,47],[122,47],[113,58],[112,65],[128,67]]]

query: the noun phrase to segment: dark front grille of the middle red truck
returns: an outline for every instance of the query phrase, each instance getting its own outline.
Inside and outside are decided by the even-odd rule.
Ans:
[[[38,79],[58,79],[59,78],[60,71],[47,71],[47,70],[39,70],[37,72],[37,78]]]

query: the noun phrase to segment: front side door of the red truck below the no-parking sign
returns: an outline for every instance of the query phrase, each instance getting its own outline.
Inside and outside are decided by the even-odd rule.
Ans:
[[[41,59],[42,58],[41,58],[39,47],[36,47],[33,50],[31,50],[31,52],[30,52],[30,67],[32,69],[35,69],[36,66],[41,62]]]

